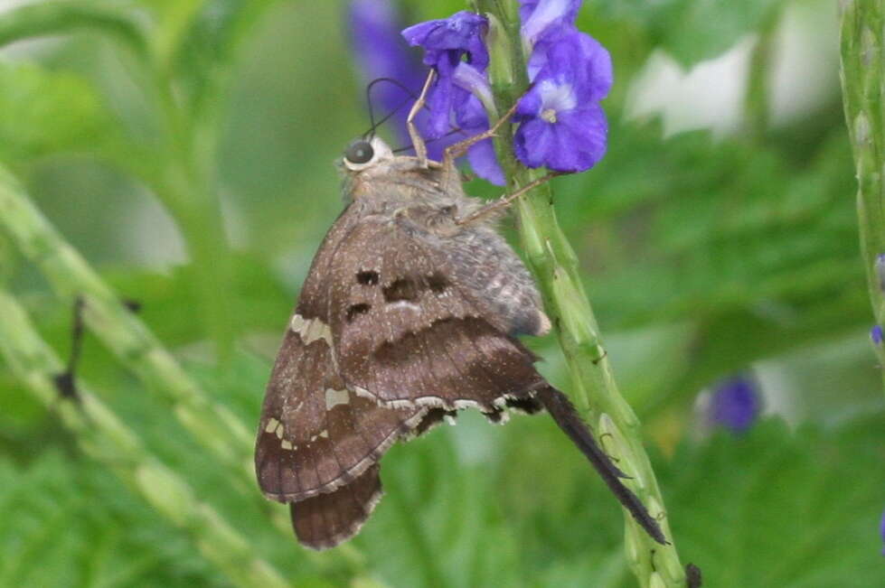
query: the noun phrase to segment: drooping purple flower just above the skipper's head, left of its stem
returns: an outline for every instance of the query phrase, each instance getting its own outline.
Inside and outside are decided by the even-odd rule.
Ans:
[[[447,19],[415,24],[402,32],[410,45],[424,49],[424,64],[437,71],[427,97],[429,138],[446,135],[452,128],[452,113],[457,116],[470,98],[470,92],[455,80],[464,58],[479,73],[485,73],[489,57],[483,37],[487,26],[485,16],[464,10]]]

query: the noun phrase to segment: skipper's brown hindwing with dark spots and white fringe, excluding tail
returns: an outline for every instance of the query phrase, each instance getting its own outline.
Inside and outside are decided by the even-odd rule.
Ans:
[[[452,279],[444,247],[396,221],[364,222],[331,262],[328,317],[348,387],[385,406],[499,415],[545,385],[532,353]]]

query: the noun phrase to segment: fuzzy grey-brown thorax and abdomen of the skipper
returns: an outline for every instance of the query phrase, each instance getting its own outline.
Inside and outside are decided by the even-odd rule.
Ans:
[[[422,163],[395,156],[374,139],[375,157],[365,164],[344,163],[344,216],[384,226],[384,239],[400,235],[446,257],[449,276],[472,297],[484,301],[488,318],[505,332],[542,334],[550,323],[532,275],[504,238],[496,219],[460,223],[482,207],[466,195],[454,163]]]

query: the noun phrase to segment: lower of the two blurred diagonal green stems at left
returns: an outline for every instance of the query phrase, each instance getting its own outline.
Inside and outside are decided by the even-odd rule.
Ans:
[[[61,424],[75,434],[83,452],[114,471],[175,527],[187,531],[202,555],[233,585],[289,585],[272,565],[254,555],[249,542],[218,512],[196,499],[187,482],[148,452],[137,435],[81,382],[76,399],[61,397],[53,379],[64,369],[61,360],[34,331],[24,309],[3,290],[0,316],[0,352],[6,362],[44,406],[59,413]]]

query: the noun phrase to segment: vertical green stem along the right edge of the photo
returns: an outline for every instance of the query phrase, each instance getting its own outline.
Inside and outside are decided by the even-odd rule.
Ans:
[[[880,0],[848,0],[840,5],[843,103],[858,180],[861,255],[873,314],[881,325],[885,322],[885,293],[876,271],[876,259],[885,253],[885,7]],[[876,345],[875,349],[880,365],[885,366],[885,347]],[[880,371],[885,385],[885,369]]]

